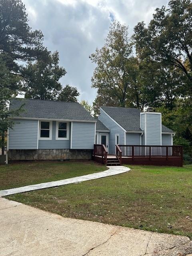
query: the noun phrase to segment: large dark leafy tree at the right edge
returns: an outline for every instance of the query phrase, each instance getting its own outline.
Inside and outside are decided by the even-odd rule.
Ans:
[[[192,2],[170,0],[167,9],[156,9],[148,26],[144,22],[135,26],[133,39],[138,58],[160,66],[162,98],[156,110],[163,113],[164,124],[176,131],[175,142],[192,155],[191,28]]]

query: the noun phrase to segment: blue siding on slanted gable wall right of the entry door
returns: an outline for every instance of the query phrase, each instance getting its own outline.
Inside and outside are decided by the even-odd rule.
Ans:
[[[115,154],[115,134],[119,134],[119,144],[125,144],[125,132],[105,112],[100,109],[98,119],[110,130],[109,133],[109,154]]]

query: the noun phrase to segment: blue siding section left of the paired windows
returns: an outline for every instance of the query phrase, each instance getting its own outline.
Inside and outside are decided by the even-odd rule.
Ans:
[[[38,137],[38,120],[14,119],[9,129],[10,149],[36,149]]]

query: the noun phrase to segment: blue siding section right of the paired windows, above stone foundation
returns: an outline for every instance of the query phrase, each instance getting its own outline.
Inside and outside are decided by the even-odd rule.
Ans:
[[[72,122],[72,149],[93,149],[95,123]]]

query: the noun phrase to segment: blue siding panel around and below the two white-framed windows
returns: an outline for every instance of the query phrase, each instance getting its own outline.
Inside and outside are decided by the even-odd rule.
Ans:
[[[56,140],[56,121],[52,121],[52,140],[39,140],[39,149],[68,149],[70,148],[69,140]]]

